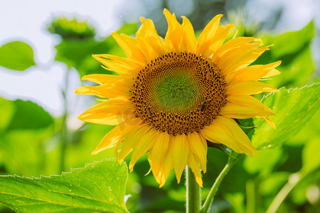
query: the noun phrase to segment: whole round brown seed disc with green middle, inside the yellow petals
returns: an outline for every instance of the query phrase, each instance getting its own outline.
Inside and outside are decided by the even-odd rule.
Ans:
[[[140,70],[131,101],[137,117],[171,135],[200,131],[225,106],[226,83],[210,59],[166,53]]]

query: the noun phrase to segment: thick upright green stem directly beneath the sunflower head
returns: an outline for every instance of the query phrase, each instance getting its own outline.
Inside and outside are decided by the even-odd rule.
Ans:
[[[191,168],[186,166],[186,212],[198,212],[201,205],[200,186],[192,174]]]

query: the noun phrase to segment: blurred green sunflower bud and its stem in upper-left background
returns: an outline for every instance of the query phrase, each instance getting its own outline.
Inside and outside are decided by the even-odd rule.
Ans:
[[[77,18],[65,18],[64,16],[55,17],[48,25],[50,33],[58,34],[62,38],[61,42],[55,46],[57,53],[55,60],[65,62],[68,70],[65,72],[63,94],[63,116],[60,135],[60,172],[65,170],[65,153],[68,144],[70,144],[70,131],[68,131],[68,87],[71,67],[80,72],[79,67],[85,58],[91,58],[88,53],[95,53],[95,46],[100,45],[93,39],[95,37],[95,28],[86,21],[78,21]],[[84,49],[82,49],[84,48]],[[104,47],[102,47],[104,48]],[[92,59],[93,60],[93,59]],[[94,66],[95,67],[95,66]],[[88,70],[95,70],[87,67]],[[83,75],[83,73],[82,73]]]

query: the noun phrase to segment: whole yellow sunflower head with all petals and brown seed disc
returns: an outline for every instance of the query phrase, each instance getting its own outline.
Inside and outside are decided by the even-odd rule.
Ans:
[[[75,93],[108,99],[83,112],[79,119],[116,125],[92,154],[115,146],[121,163],[133,151],[132,171],[137,160],[148,153],[150,170],[160,187],[173,169],[180,182],[186,165],[202,187],[207,143],[257,155],[234,119],[260,117],[274,127],[267,118],[274,113],[251,95],[278,92],[257,80],[278,75],[275,67],[280,62],[250,65],[270,45],[262,47],[262,40],[252,37],[225,42],[233,25],[220,26],[223,15],[208,23],[198,41],[188,18],[182,16],[181,24],[167,9],[164,15],[168,22],[164,39],[150,19],[141,18],[135,38],[112,33],[127,58],[93,55],[119,75],[82,78],[99,85],[80,87]]]

